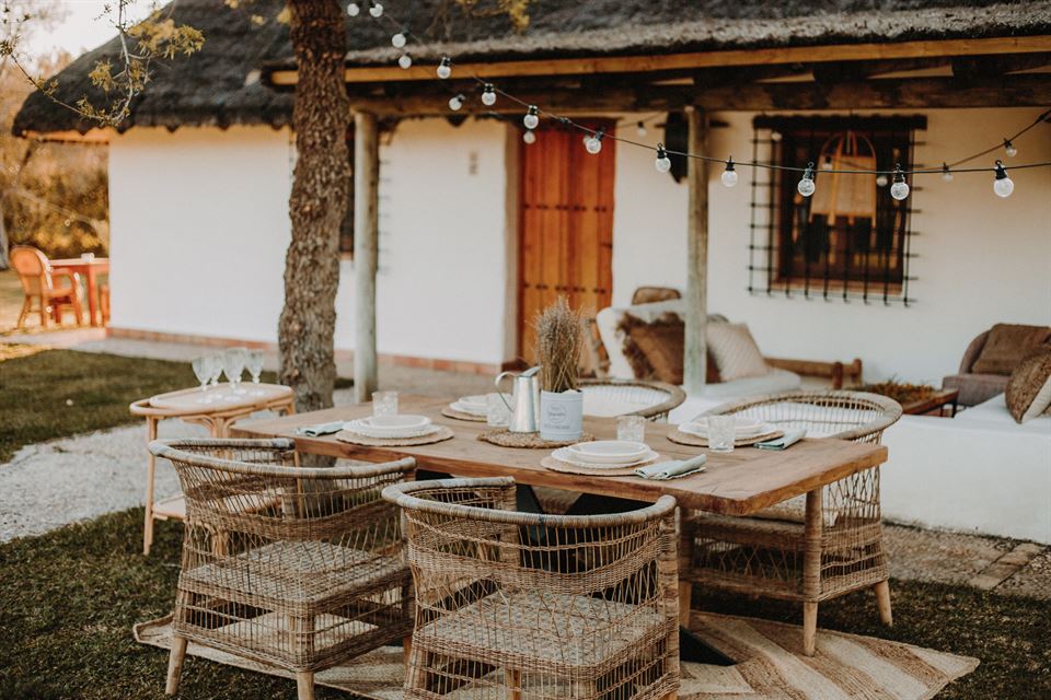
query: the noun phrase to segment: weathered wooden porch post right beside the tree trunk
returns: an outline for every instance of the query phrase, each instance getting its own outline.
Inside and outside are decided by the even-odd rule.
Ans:
[[[376,390],[376,268],[379,249],[380,142],[376,115],[354,115],[354,395]]]

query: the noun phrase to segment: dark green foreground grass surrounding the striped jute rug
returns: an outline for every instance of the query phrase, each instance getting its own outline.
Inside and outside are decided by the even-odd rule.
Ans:
[[[154,551],[139,550],[142,511],[105,515],[0,545],[0,698],[163,698],[168,653],[137,644],[136,622],[170,611],[182,527],[159,523]],[[894,582],[892,629],[868,592],[822,604],[821,627],[977,656],[982,665],[939,698],[1051,698],[1047,603],[974,588]],[[798,622],[796,606],[744,597],[697,600],[705,609]],[[188,658],[182,698],[294,697],[294,682]],[[319,688],[319,698],[347,698]]]

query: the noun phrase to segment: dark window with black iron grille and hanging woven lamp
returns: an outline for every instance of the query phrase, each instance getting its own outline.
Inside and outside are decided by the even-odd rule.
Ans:
[[[890,196],[891,176],[830,171],[913,166],[924,117],[771,117],[753,120],[752,159],[788,167],[815,164],[816,191],[796,190],[800,173],[754,171],[749,291],[825,300],[902,303],[909,296],[911,205]]]

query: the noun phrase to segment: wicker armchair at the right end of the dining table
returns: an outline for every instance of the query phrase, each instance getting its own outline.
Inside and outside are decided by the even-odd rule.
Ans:
[[[862,392],[794,392],[727,404],[707,415],[748,416],[808,438],[878,443],[901,406]],[[806,517],[812,513],[812,517]],[[818,517],[820,513],[820,517]],[[691,512],[680,544],[685,582],[804,604],[804,650],[812,654],[818,603],[874,586],[892,623],[879,509],[879,469],[854,474],[754,517]]]

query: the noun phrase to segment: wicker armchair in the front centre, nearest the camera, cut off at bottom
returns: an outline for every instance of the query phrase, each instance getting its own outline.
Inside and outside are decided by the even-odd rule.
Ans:
[[[675,502],[515,512],[515,481],[388,487],[416,583],[405,698],[674,698]],[[454,692],[455,691],[455,692]]]

